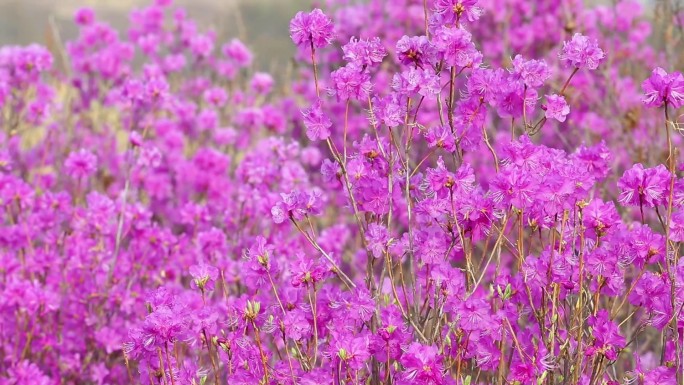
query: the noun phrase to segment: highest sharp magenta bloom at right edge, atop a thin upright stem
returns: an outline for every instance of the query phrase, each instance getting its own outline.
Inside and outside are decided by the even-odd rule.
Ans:
[[[648,107],[660,107],[665,103],[674,108],[684,105],[684,76],[679,72],[668,74],[656,67],[641,87],[644,89],[643,102]]]

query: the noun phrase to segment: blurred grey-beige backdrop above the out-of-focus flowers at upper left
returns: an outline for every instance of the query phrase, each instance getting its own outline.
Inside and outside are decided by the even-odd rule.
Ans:
[[[80,7],[95,9],[96,17],[122,33],[128,13],[152,0],[0,0],[0,46],[45,44],[51,23],[63,41],[76,36],[73,15]],[[221,37],[240,37],[255,53],[259,69],[270,70],[287,61],[294,47],[288,35],[289,21],[310,0],[174,0],[200,28],[213,28]],[[224,39],[220,39],[224,40]]]

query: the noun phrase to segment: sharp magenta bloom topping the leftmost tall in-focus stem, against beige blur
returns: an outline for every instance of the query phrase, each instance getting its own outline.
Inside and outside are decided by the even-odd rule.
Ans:
[[[299,47],[323,48],[334,38],[332,20],[316,8],[311,12],[297,12],[290,21],[290,37]]]

